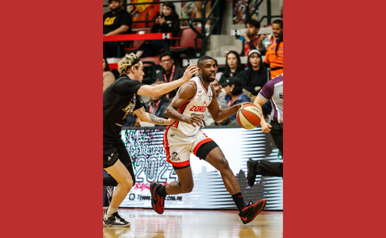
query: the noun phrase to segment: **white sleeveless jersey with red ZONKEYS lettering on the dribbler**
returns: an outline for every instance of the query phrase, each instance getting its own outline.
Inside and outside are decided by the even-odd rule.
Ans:
[[[201,82],[199,76],[194,77],[189,81],[193,81],[196,84],[197,90],[195,96],[191,99],[186,101],[179,109],[179,113],[185,116],[200,116],[204,117],[205,110],[207,110],[207,107],[209,106],[210,102],[212,101],[213,92],[212,87],[208,86],[207,89],[204,88],[203,83]],[[179,89],[177,94],[179,93]],[[202,122],[201,122],[202,123]],[[196,125],[196,127],[193,127],[191,124],[176,121],[171,125],[172,127],[177,128],[178,130],[181,130],[185,135],[188,137],[196,135],[198,130],[200,130],[200,127]],[[201,127],[204,127],[204,125],[201,125]]]

